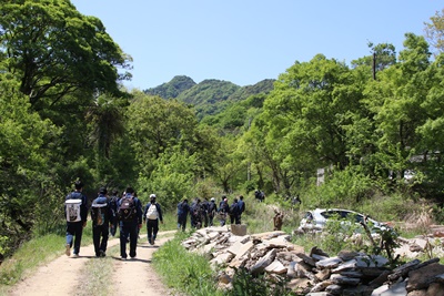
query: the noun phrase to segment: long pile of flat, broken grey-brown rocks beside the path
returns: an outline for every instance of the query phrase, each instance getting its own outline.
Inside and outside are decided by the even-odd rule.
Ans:
[[[414,259],[397,268],[386,267],[383,256],[341,252],[335,257],[314,247],[290,243],[284,232],[246,235],[245,225],[208,227],[182,242],[190,252],[210,257],[222,267],[220,286],[231,287],[235,268],[252,275],[285,276],[299,295],[440,295],[444,292],[444,265],[438,259]]]

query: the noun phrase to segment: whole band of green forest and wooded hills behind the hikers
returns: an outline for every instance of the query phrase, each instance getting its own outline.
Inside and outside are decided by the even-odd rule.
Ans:
[[[369,43],[351,64],[315,54],[255,85],[175,76],[128,91],[131,55],[100,19],[69,0],[0,3],[1,254],[62,232],[77,180],[90,198],[154,192],[167,211],[260,188],[282,204],[397,196],[443,215],[444,10],[403,49]]]

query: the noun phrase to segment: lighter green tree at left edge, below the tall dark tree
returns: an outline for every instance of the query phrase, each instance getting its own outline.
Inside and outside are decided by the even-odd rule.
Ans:
[[[47,205],[53,201],[54,195],[46,191],[57,177],[51,175],[52,146],[47,143],[60,133],[32,111],[28,98],[18,91],[19,84],[0,74],[0,236],[7,236],[11,244],[18,244],[42,222],[41,198]]]

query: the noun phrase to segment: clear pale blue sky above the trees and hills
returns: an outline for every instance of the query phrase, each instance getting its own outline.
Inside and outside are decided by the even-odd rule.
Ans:
[[[403,49],[404,34],[424,34],[437,0],[71,0],[99,18],[133,59],[129,89],[147,90],[175,75],[240,86],[278,79],[322,53],[350,64],[369,42]]]

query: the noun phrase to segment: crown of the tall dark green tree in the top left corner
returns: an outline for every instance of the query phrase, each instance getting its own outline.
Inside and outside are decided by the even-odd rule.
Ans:
[[[130,69],[131,58],[68,0],[1,0],[0,52],[37,110],[78,90],[118,94],[118,81],[130,78],[118,69]]]

